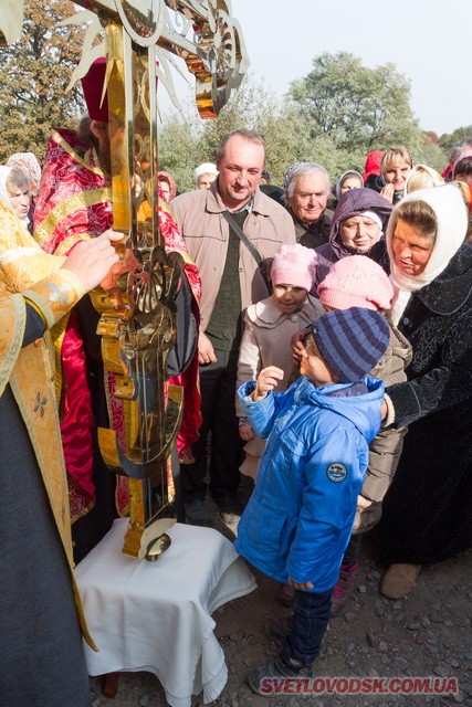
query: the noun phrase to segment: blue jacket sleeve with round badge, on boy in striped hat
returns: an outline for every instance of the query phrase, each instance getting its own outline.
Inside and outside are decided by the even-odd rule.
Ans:
[[[367,461],[366,441],[345,428],[322,437],[307,456],[303,506],[286,570],[296,582],[312,582],[314,591],[336,583]]]

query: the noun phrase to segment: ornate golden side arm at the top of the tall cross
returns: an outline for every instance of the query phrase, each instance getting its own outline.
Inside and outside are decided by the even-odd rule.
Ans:
[[[76,4],[91,10],[105,24],[123,24],[138,46],[157,45],[157,75],[175,102],[169,64],[176,67],[171,55],[183,59],[196,76],[196,101],[202,118],[218,115],[249,67],[230,0],[78,0]],[[77,20],[83,21],[82,15]],[[97,54],[96,48],[93,54],[84,50],[76,77],[86,74]]]

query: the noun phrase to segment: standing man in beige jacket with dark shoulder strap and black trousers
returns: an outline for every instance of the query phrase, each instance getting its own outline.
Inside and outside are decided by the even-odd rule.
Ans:
[[[224,521],[234,523],[240,516],[237,489],[242,442],[234,405],[242,314],[268,296],[254,256],[223,214],[231,214],[264,261],[282,243],[295,242],[290,214],[258,187],[264,160],[262,138],[234,130],[218,149],[219,175],[211,187],[171,202],[202,281],[198,346],[203,423],[193,445],[195,464],[185,465],[181,474],[187,521],[195,525],[211,524],[203,482],[210,432],[211,494]]]

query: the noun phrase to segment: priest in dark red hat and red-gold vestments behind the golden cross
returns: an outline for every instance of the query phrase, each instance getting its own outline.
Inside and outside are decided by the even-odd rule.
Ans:
[[[113,221],[113,148],[108,136],[106,94],[102,103],[105,71],[106,60],[99,59],[82,80],[88,115],[81,120],[78,130],[54,130],[48,144],[34,213],[34,235],[49,253],[66,254],[78,241],[98,235]],[[185,279],[198,319],[198,270],[190,262],[176,221],[161,199],[158,217],[166,249],[179,251],[186,260]],[[103,367],[101,338],[96,335],[97,320],[98,314],[90,297],[84,297],[72,312],[56,346],[62,358],[61,432],[76,561],[102,539],[116,513],[127,511],[129,500],[126,478],[109,472],[96,441],[96,428],[108,426],[108,413],[115,421],[120,415],[117,411],[119,405],[113,398],[114,379]],[[177,442],[181,458],[192,458],[191,444],[198,437],[200,399],[197,373],[195,356],[183,373],[186,402]],[[119,434],[119,422],[114,426]]]

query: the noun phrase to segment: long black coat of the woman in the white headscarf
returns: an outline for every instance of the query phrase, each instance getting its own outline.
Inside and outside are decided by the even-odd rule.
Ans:
[[[413,349],[408,382],[388,388],[409,425],[380,524],[386,562],[429,564],[472,541],[472,245],[413,293],[398,328]]]

